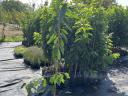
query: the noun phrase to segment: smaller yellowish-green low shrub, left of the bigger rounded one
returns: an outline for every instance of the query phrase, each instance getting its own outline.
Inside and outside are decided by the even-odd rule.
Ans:
[[[15,50],[14,50],[14,56],[16,58],[22,58],[25,50],[26,50],[26,47],[24,47],[24,46],[16,47]]]

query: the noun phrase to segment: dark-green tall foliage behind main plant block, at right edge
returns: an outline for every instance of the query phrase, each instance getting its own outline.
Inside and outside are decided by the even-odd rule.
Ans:
[[[108,9],[109,33],[115,47],[128,44],[128,9],[122,6],[113,6]]]

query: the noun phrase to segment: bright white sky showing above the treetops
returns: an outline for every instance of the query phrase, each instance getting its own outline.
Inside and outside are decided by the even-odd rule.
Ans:
[[[32,3],[35,2],[37,5],[40,5],[41,2],[46,1],[46,0],[20,0],[24,3]],[[48,0],[51,1],[51,0]],[[116,0],[118,4],[123,5],[123,6],[128,6],[128,0]]]

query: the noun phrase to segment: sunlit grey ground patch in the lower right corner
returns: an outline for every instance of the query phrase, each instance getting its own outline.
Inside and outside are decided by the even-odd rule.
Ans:
[[[114,83],[121,96],[128,96],[128,68],[113,68],[108,73],[109,79]]]

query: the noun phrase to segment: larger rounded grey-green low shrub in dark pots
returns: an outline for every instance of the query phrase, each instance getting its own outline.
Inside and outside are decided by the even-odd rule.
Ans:
[[[47,62],[47,58],[44,56],[44,52],[41,48],[38,47],[29,47],[24,52],[24,62],[31,66],[33,69],[40,68],[42,63]]]

